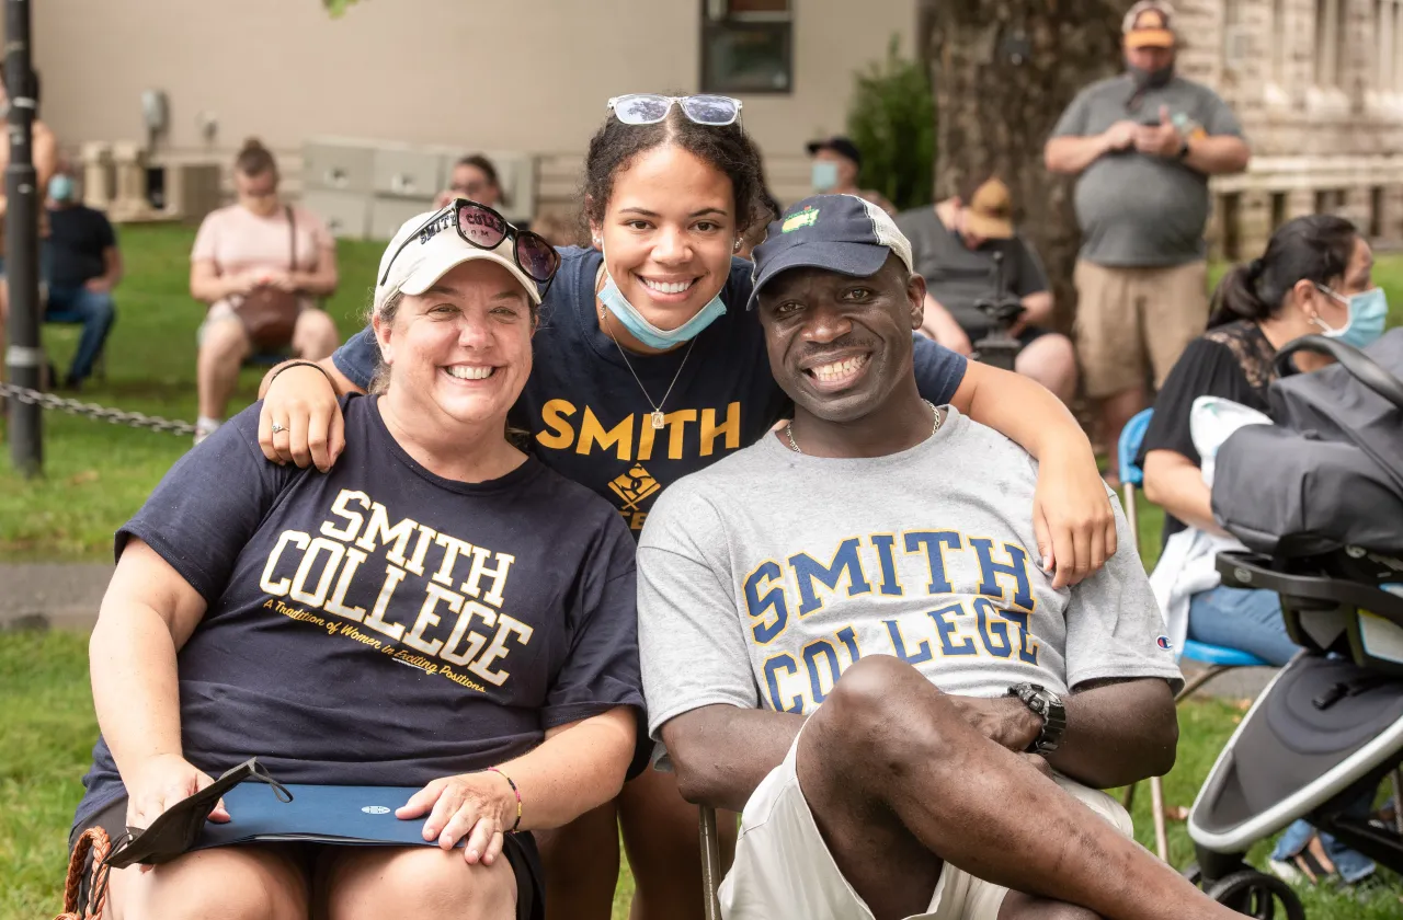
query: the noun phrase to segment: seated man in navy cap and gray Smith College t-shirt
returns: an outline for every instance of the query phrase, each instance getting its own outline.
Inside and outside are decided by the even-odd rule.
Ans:
[[[1033,460],[916,391],[909,243],[824,195],[755,258],[794,421],[676,482],[638,544],[650,731],[686,798],[744,809],[724,916],[1233,917],[1097,791],[1174,760],[1145,572],[1121,551],[1052,588]]]

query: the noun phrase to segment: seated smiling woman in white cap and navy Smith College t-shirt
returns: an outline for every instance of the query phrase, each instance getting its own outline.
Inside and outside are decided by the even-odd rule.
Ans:
[[[118,532],[91,648],[102,736],[74,818],[74,839],[147,827],[257,756],[289,784],[419,788],[390,805],[436,846],[198,850],[114,871],[118,916],[539,919],[528,832],[623,785],[643,711],[633,540],[505,436],[533,279],[558,258],[539,238],[523,258],[504,220],[460,205],[501,243],[471,245],[460,216],[391,244],[386,366],[342,402],[334,470],[269,463],[250,407]],[[230,811],[212,819],[237,825]]]

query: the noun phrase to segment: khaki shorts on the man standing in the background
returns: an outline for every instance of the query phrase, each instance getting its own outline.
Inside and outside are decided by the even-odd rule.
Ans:
[[[1164,383],[1208,325],[1208,264],[1107,268],[1076,261],[1076,351],[1086,395],[1101,400]],[[1148,366],[1146,366],[1148,359]]]

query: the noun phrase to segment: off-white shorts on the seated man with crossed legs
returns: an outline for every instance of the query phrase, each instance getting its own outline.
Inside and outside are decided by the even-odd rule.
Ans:
[[[871,920],[873,913],[838,871],[798,788],[796,752],[770,770],[745,804],[735,862],[721,882],[727,920]],[[1056,784],[1127,837],[1131,816],[1114,798],[1065,777]],[[908,920],[998,920],[1007,888],[946,862],[930,906]]]

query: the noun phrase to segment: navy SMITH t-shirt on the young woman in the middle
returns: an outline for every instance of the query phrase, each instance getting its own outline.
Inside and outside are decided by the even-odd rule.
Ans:
[[[788,400],[770,376],[765,334],[755,311],[745,309],[753,266],[732,261],[721,290],[725,316],[692,344],[624,358],[595,317],[595,276],[603,257],[582,248],[560,254],[533,341],[535,366],[512,425],[530,432],[542,463],[609,501],[637,539],[664,488],[755,443],[786,411]],[[334,360],[352,383],[366,387],[379,360],[375,334],[358,332]],[[922,395],[937,405],[948,402],[964,379],[965,359],[916,337],[915,360]],[[661,429],[651,422],[654,405],[664,412]]]

